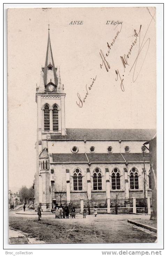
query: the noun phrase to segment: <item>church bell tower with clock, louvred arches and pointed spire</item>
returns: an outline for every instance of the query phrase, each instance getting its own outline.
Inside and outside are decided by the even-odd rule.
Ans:
[[[41,203],[43,208],[48,208],[48,205],[51,204],[48,140],[53,134],[66,135],[64,109],[66,94],[64,93],[64,86],[61,84],[60,67],[58,74],[57,72],[51,48],[50,28],[48,27],[45,66],[41,68],[40,83],[36,88],[37,172],[35,175],[35,206],[37,207]]]

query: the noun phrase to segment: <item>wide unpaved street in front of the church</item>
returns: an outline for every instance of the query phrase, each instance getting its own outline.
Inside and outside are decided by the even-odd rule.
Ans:
[[[9,226],[20,230],[36,243],[150,243],[157,239],[151,232],[127,222],[128,219],[148,218],[147,215],[98,214],[83,218],[55,219],[55,215],[22,215],[9,213]]]

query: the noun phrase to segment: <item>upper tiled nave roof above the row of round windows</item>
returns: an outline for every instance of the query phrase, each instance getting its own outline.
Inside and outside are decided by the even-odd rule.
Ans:
[[[151,140],[155,129],[67,129],[67,135],[52,134],[51,140]]]

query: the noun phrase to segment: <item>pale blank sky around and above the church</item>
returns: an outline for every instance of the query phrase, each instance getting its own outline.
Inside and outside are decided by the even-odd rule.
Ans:
[[[8,9],[8,154],[12,191],[32,186],[36,171],[35,94],[41,66],[45,65],[48,23],[54,63],[60,66],[66,93],[66,128],[150,129],[156,128],[154,12],[153,7]],[[70,25],[74,20],[83,24]],[[112,20],[122,25],[114,26]],[[136,38],[124,68],[120,56],[127,56]],[[142,50],[138,55],[139,48]],[[136,67],[132,67],[137,56]],[[86,87],[89,94],[83,102]],[[82,107],[77,105],[78,95]]]

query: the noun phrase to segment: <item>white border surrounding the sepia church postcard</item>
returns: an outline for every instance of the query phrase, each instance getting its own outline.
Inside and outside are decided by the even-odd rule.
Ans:
[[[157,8],[157,170],[158,173],[158,242],[157,243],[131,243],[131,244],[33,244],[33,245],[9,245],[8,244],[8,156],[7,156],[7,8],[35,8],[35,7],[139,7],[139,6],[155,6]],[[1,15],[2,19],[2,15]],[[1,22],[2,24],[2,22]],[[1,68],[2,70],[2,68]],[[163,4],[143,3],[143,4],[45,4],[45,3],[6,3],[4,4],[4,249],[30,250],[33,249],[99,249],[100,250],[115,250],[115,249],[162,249],[163,248]],[[2,104],[2,99],[1,99]],[[2,108],[1,108],[2,109]],[[1,133],[2,134],[2,133]],[[1,190],[1,194],[3,191]],[[2,208],[1,208],[2,209]],[[1,210],[1,220],[2,220]],[[2,241],[2,239],[1,239]],[[9,251],[9,250],[8,250]],[[13,250],[15,251],[15,250]],[[90,254],[91,254],[90,250]],[[34,250],[35,255],[37,250]],[[46,254],[47,251],[38,251],[40,255]],[[54,251],[47,252],[49,254]],[[56,253],[59,254],[59,251]],[[68,251],[68,255],[72,255],[73,250]],[[75,251],[75,254],[78,251]],[[85,254],[87,251],[79,251],[79,254]],[[98,252],[99,253],[99,252]],[[96,250],[92,251],[96,254]],[[101,255],[101,253],[100,253]]]

